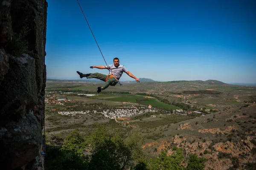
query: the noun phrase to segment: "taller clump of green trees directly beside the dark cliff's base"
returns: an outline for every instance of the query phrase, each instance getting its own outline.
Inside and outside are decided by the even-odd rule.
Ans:
[[[77,130],[66,139],[53,137],[48,141],[46,170],[125,170],[134,167],[143,156],[144,139],[139,133],[121,137],[115,126],[96,125],[89,136]]]

